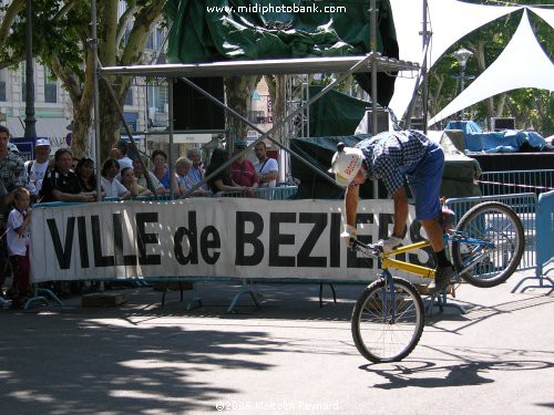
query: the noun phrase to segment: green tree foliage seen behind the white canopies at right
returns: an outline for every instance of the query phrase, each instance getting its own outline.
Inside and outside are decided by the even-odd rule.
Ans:
[[[491,4],[491,1],[475,0],[473,3]],[[499,2],[501,3],[501,2]],[[512,1],[511,6],[525,4],[522,0]],[[534,0],[533,6],[551,4],[551,0]],[[509,6],[502,2],[499,6]],[[541,18],[529,12],[531,24],[535,35],[548,56],[554,55],[553,29]],[[503,18],[485,24],[479,30],[462,38],[453,44],[431,69],[429,73],[429,114],[433,116],[452,101],[460,91],[459,77],[452,75],[459,73],[458,62],[453,52],[465,48],[473,53],[468,61],[465,75],[478,77],[492,62],[499,58],[507,45],[522,18],[522,11],[507,14]],[[506,68],[506,71],[510,71]],[[469,86],[471,80],[466,80]],[[516,128],[535,131],[548,136],[554,134],[554,96],[550,91],[522,89],[509,91],[466,108],[466,116],[481,122],[483,126],[490,126],[490,120],[497,117],[514,117]]]

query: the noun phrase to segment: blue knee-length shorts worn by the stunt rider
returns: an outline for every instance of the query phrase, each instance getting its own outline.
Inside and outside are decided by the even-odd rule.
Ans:
[[[431,142],[427,156],[412,172],[406,175],[416,199],[416,219],[425,220],[439,217],[443,169],[444,153],[438,144]]]

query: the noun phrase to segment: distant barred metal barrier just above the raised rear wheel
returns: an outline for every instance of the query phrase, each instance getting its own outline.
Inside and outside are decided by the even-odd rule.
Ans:
[[[554,190],[554,169],[484,172],[478,179],[483,196]]]

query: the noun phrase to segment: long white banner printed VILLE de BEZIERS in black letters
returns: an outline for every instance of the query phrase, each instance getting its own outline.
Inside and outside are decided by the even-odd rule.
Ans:
[[[376,263],[349,251],[340,240],[342,209],[342,200],[248,198],[37,207],[31,226],[32,280],[372,280]],[[361,200],[358,221],[362,240],[386,237],[392,228],[392,201]],[[406,243],[421,239],[418,224],[410,227]],[[409,256],[412,262],[428,264],[425,251]]]

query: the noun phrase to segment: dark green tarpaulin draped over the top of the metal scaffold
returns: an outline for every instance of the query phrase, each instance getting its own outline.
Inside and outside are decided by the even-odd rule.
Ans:
[[[377,51],[398,59],[390,3],[378,3]],[[201,63],[362,55],[371,51],[369,7],[363,0],[170,0],[167,58],[171,63]],[[369,74],[356,76],[369,92]],[[377,102],[386,106],[394,77],[379,73],[378,84]]]

